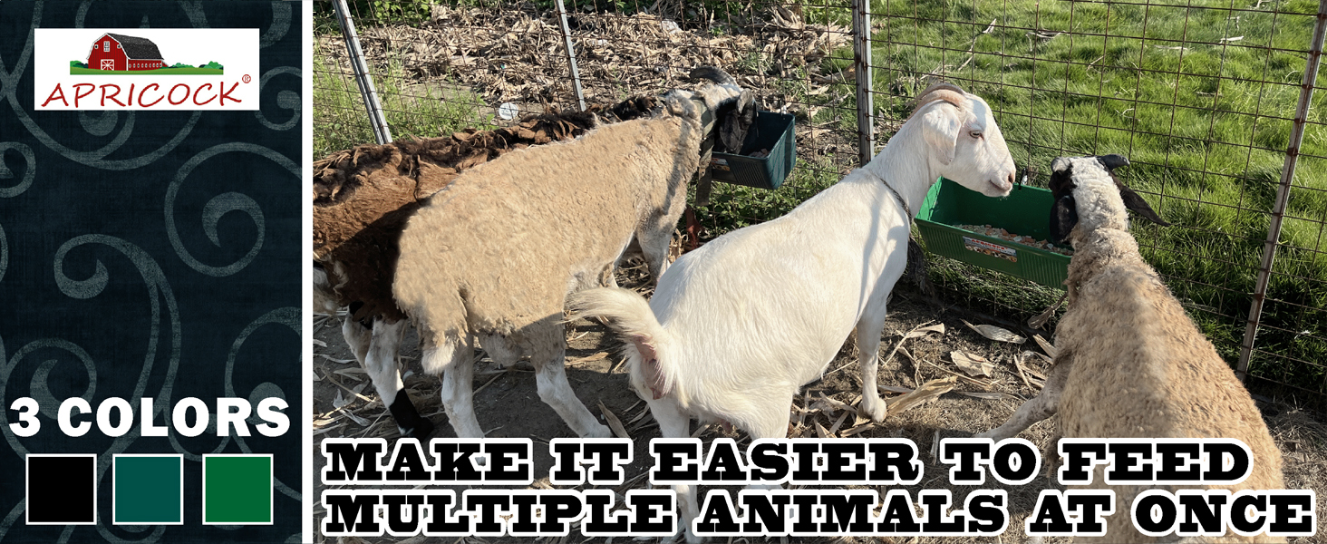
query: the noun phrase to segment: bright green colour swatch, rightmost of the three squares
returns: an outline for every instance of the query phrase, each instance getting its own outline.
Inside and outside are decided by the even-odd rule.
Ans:
[[[203,523],[272,523],[272,456],[203,455]]]

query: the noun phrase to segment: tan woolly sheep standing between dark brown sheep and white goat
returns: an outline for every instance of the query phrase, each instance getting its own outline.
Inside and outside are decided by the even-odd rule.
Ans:
[[[458,437],[483,437],[471,401],[475,336],[498,364],[528,356],[539,397],[577,435],[609,435],[564,374],[564,299],[598,287],[633,235],[653,277],[667,267],[706,135],[701,100],[731,98],[707,90],[667,94],[654,118],[480,165],[409,220],[393,295],[419,328],[425,372],[443,374]]]

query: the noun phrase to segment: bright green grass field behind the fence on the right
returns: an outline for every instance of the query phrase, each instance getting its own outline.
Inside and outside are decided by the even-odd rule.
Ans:
[[[914,92],[928,74],[943,74],[982,96],[1015,162],[1040,169],[1039,186],[1058,155],[1128,157],[1124,183],[1174,224],[1135,223],[1145,256],[1222,356],[1237,360],[1318,3],[1263,3],[1261,11],[1222,0],[872,5],[889,15],[873,17],[876,90]],[[880,114],[906,115],[904,97],[876,100]],[[1324,121],[1324,105],[1319,92],[1304,155],[1327,157],[1327,133],[1312,125]],[[1310,390],[1322,390],[1327,362],[1324,174],[1327,161],[1300,158],[1269,292],[1283,303],[1269,303],[1263,322],[1271,326],[1258,338],[1286,358],[1255,357],[1251,366],[1254,375]],[[947,273],[950,285],[974,283],[962,268]],[[983,299],[1026,299],[998,283],[975,284]]]

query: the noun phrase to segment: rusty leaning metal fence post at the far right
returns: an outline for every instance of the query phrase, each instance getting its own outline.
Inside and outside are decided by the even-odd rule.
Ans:
[[[1253,305],[1249,308],[1249,325],[1245,328],[1243,344],[1239,346],[1239,365],[1235,375],[1243,381],[1249,374],[1249,358],[1258,336],[1262,320],[1262,304],[1267,299],[1267,284],[1271,280],[1271,264],[1277,259],[1277,244],[1281,240],[1282,219],[1290,204],[1290,186],[1295,179],[1295,165],[1299,162],[1299,143],[1304,139],[1304,121],[1308,118],[1308,105],[1318,82],[1318,64],[1323,52],[1323,37],[1327,36],[1327,0],[1318,3],[1318,23],[1314,27],[1312,42],[1308,44],[1308,60],[1304,62],[1304,77],[1299,88],[1299,106],[1290,129],[1290,145],[1286,147],[1286,162],[1281,167],[1281,186],[1277,187],[1277,200],[1271,206],[1271,224],[1267,227],[1267,240],[1262,247],[1262,267],[1254,284]]]

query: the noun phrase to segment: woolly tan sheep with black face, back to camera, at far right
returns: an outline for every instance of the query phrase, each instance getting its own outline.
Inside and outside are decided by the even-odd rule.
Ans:
[[[1166,224],[1112,169],[1120,155],[1058,158],[1051,165],[1051,235],[1074,244],[1068,312],[1055,330],[1059,353],[1042,393],[1002,426],[1001,441],[1059,413],[1062,438],[1235,438],[1253,452],[1253,472],[1235,486],[1109,486],[1116,513],[1107,535],[1079,541],[1151,543],[1129,506],[1149,488],[1279,490],[1281,451],[1230,366],[1198,332],[1161,277],[1139,255],[1125,208]],[[1101,470],[1091,487],[1104,484]],[[1176,540],[1170,535],[1170,540]],[[1282,537],[1202,537],[1208,543],[1285,541]]]

